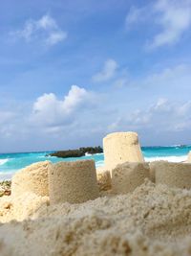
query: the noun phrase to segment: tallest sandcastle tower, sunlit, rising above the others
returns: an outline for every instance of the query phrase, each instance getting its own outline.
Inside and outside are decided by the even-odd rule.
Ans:
[[[114,132],[103,138],[105,169],[124,162],[144,162],[136,132]]]

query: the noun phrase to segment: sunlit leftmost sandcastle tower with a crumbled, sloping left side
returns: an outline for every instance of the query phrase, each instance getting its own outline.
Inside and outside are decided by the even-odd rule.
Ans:
[[[13,175],[11,195],[19,197],[32,192],[37,196],[49,196],[48,169],[51,165],[49,161],[34,163]]]

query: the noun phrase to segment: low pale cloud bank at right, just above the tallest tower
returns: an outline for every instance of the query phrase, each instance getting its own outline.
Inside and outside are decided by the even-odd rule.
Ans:
[[[191,102],[176,103],[166,98],[159,100],[146,109],[136,109],[128,116],[117,117],[117,121],[108,126],[108,130],[152,130],[153,133],[178,132],[190,129]]]

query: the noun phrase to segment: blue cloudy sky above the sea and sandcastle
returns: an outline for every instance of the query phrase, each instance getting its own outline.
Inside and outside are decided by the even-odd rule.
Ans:
[[[191,144],[191,0],[0,4],[0,151]]]

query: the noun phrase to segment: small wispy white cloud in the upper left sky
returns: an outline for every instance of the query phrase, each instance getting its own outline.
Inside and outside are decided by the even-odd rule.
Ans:
[[[38,20],[27,20],[22,30],[11,32],[15,39],[25,39],[27,42],[41,40],[47,46],[53,46],[67,38],[67,33],[62,31],[56,21],[49,14],[43,15]]]

